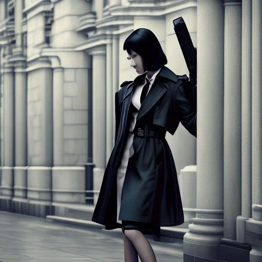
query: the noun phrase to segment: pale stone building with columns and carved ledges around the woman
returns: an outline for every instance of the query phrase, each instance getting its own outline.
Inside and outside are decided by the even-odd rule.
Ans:
[[[198,49],[198,143],[181,125],[166,136],[191,223],[184,261],[261,261],[261,0],[0,0],[1,210],[91,220],[115,92],[136,77],[123,42],[150,29],[188,75],[179,16]]]

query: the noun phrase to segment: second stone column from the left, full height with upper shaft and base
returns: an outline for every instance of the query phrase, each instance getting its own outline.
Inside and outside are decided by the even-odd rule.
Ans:
[[[24,212],[27,205],[27,73],[23,57],[23,1],[15,0],[15,167],[14,211]]]

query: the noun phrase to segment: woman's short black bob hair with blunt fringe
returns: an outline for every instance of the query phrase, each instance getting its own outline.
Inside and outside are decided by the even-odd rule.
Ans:
[[[139,28],[131,33],[124,42],[124,50],[131,50],[142,57],[144,71],[157,71],[167,64],[160,42],[156,35],[146,28]]]

